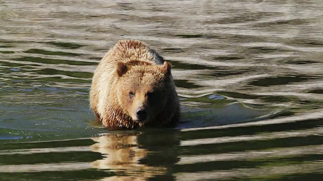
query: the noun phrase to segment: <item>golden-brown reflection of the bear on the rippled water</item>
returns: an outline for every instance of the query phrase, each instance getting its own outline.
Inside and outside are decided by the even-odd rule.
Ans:
[[[94,137],[92,139],[96,143],[91,150],[101,153],[104,158],[94,161],[92,165],[116,173],[116,176],[102,180],[146,180],[149,177],[169,180],[173,177],[169,168],[179,161],[174,148],[180,142],[175,138],[174,134],[165,138],[153,134],[148,137],[142,133],[112,133]],[[163,149],[160,150],[161,145]]]

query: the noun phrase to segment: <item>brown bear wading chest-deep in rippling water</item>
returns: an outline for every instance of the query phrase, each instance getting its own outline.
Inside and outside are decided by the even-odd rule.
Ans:
[[[90,107],[105,127],[175,126],[180,104],[171,64],[144,42],[119,41],[94,71]]]

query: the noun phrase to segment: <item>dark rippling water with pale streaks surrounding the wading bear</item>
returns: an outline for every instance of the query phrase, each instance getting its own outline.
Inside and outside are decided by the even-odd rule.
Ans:
[[[323,2],[0,1],[0,180],[322,180]],[[95,124],[118,40],[173,64],[176,129]]]

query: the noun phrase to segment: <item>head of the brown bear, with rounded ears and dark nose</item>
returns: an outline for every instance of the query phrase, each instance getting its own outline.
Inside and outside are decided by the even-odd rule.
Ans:
[[[119,105],[133,121],[149,122],[165,110],[172,93],[170,63],[118,62],[116,71]]]

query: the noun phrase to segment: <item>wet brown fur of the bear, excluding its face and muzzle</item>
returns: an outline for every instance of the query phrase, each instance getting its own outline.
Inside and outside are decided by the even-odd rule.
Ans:
[[[151,77],[150,74],[152,74],[154,80],[147,79],[147,82],[160,81],[158,88],[163,90],[163,94],[167,94],[168,99],[160,103],[166,106],[160,108],[162,110],[157,110],[159,113],[146,123],[132,120],[127,113],[129,108],[125,108],[127,104],[123,103],[124,98],[121,96],[123,89],[127,88],[125,81],[132,81],[128,80],[127,76],[133,77],[133,74],[137,77]],[[145,83],[143,86],[146,86]],[[146,91],[145,87],[141,89]],[[97,120],[106,127],[138,128],[176,125],[180,118],[180,105],[171,74],[171,65],[143,42],[119,41],[106,53],[94,71],[90,107]]]

